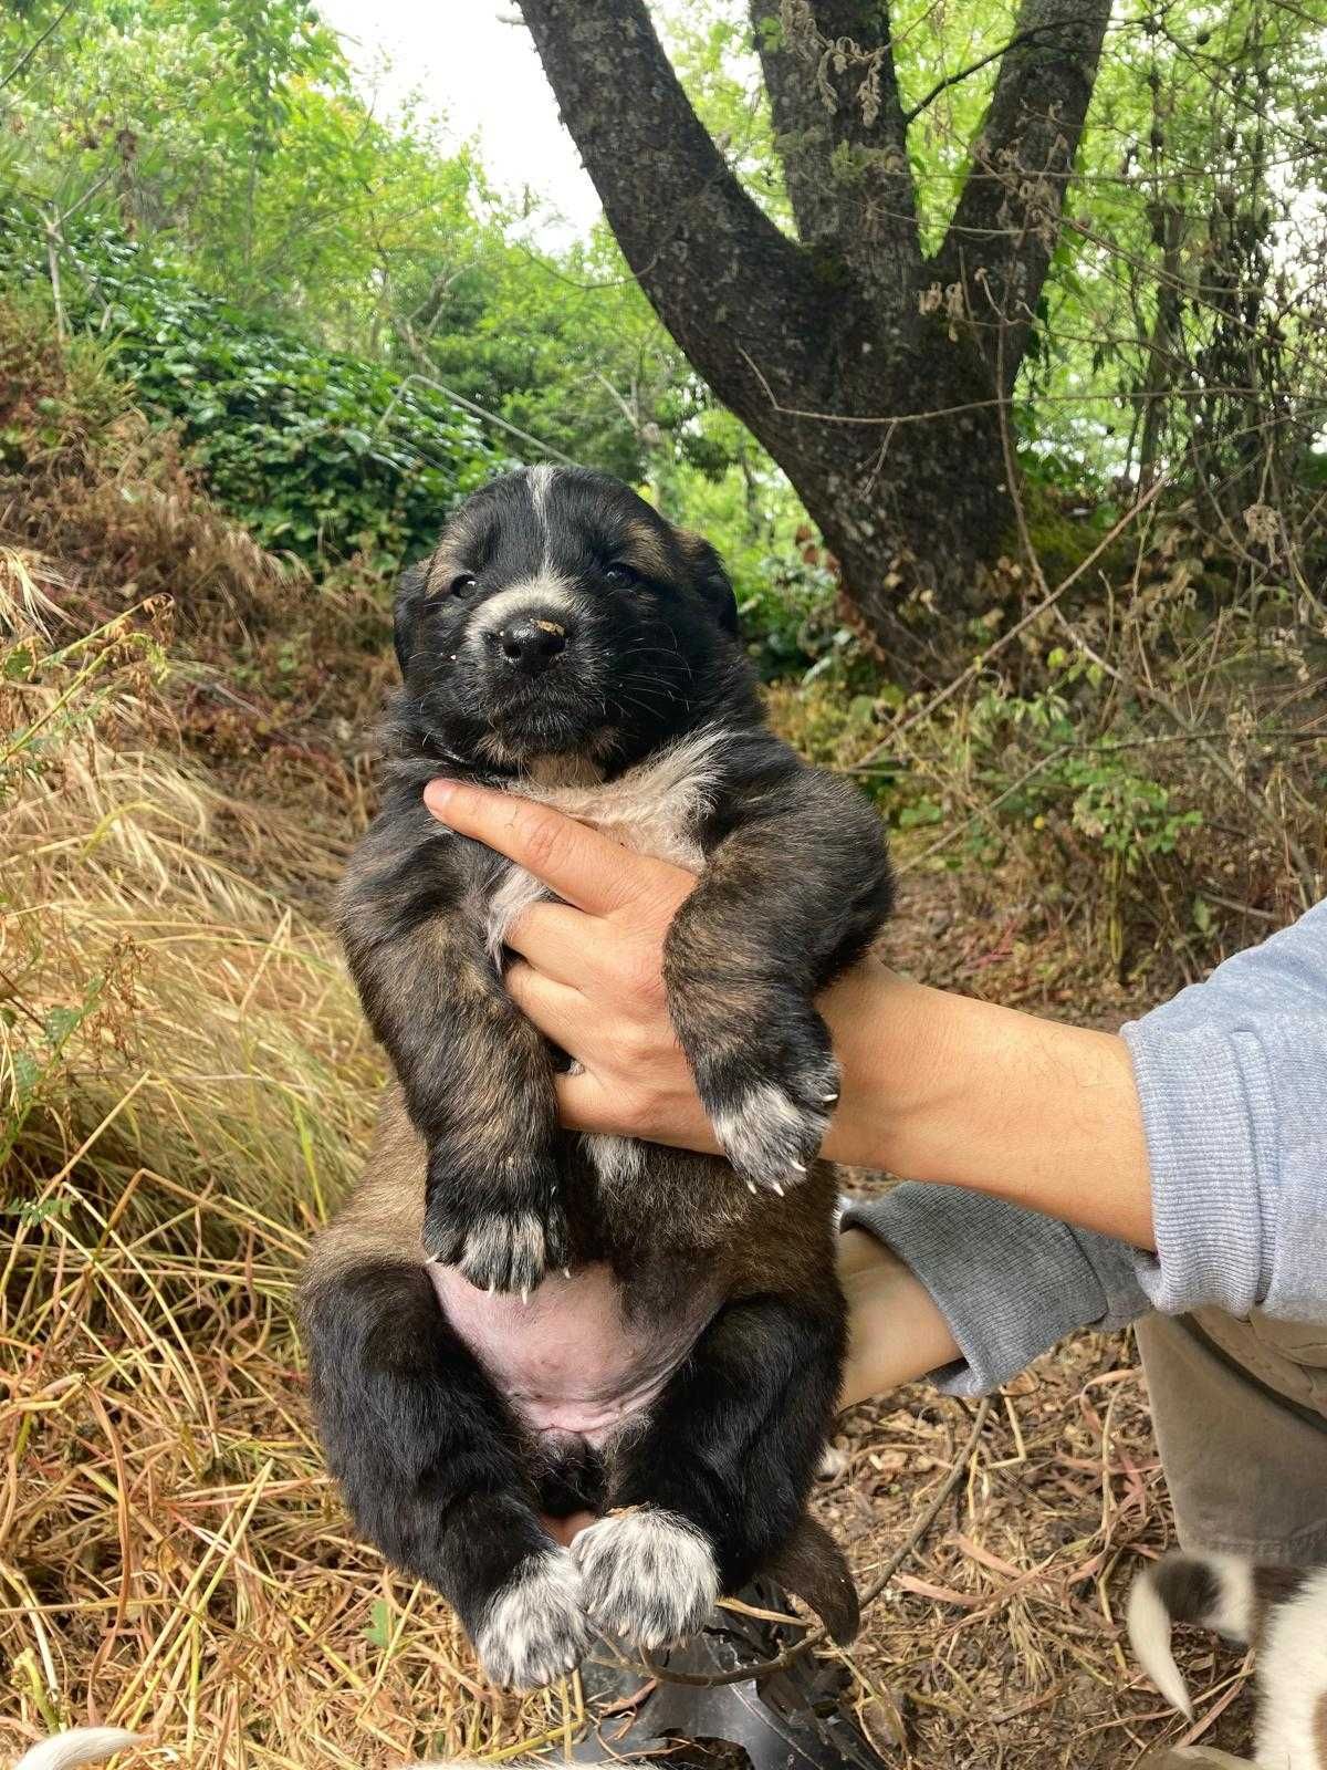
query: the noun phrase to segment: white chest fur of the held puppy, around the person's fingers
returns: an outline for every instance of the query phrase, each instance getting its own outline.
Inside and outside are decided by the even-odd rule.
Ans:
[[[697,827],[713,791],[713,756],[722,742],[724,731],[708,726],[616,781],[586,786],[527,779],[508,791],[552,805],[633,853],[701,873],[704,855]],[[511,867],[488,904],[488,950],[495,963],[501,963],[502,942],[517,917],[548,896],[547,885],[524,867]]]

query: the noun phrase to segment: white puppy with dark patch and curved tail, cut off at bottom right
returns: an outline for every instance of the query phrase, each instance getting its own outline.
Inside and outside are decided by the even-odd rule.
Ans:
[[[1134,1581],[1129,1639],[1138,1662],[1166,1701],[1193,1719],[1170,1650],[1171,1623],[1201,1623],[1258,1648],[1256,1765],[1327,1770],[1327,1568],[1173,1552]]]

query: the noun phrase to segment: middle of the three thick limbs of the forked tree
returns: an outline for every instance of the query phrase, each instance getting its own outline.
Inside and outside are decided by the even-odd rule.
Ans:
[[[872,294],[911,297],[920,248],[908,126],[883,0],[773,0],[750,21],[798,232]]]

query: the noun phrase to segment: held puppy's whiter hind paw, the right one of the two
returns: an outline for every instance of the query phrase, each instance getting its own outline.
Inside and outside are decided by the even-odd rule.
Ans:
[[[571,1554],[593,1620],[648,1650],[697,1634],[718,1598],[710,1543],[672,1512],[639,1506],[600,1519],[580,1531]]]

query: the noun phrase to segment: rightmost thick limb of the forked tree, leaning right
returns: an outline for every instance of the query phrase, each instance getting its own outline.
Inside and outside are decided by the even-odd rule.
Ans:
[[[1060,230],[1097,74],[1109,0],[1023,0],[945,244],[940,283],[961,283],[980,333],[1003,333],[1014,384]],[[987,361],[996,349],[989,342]]]

